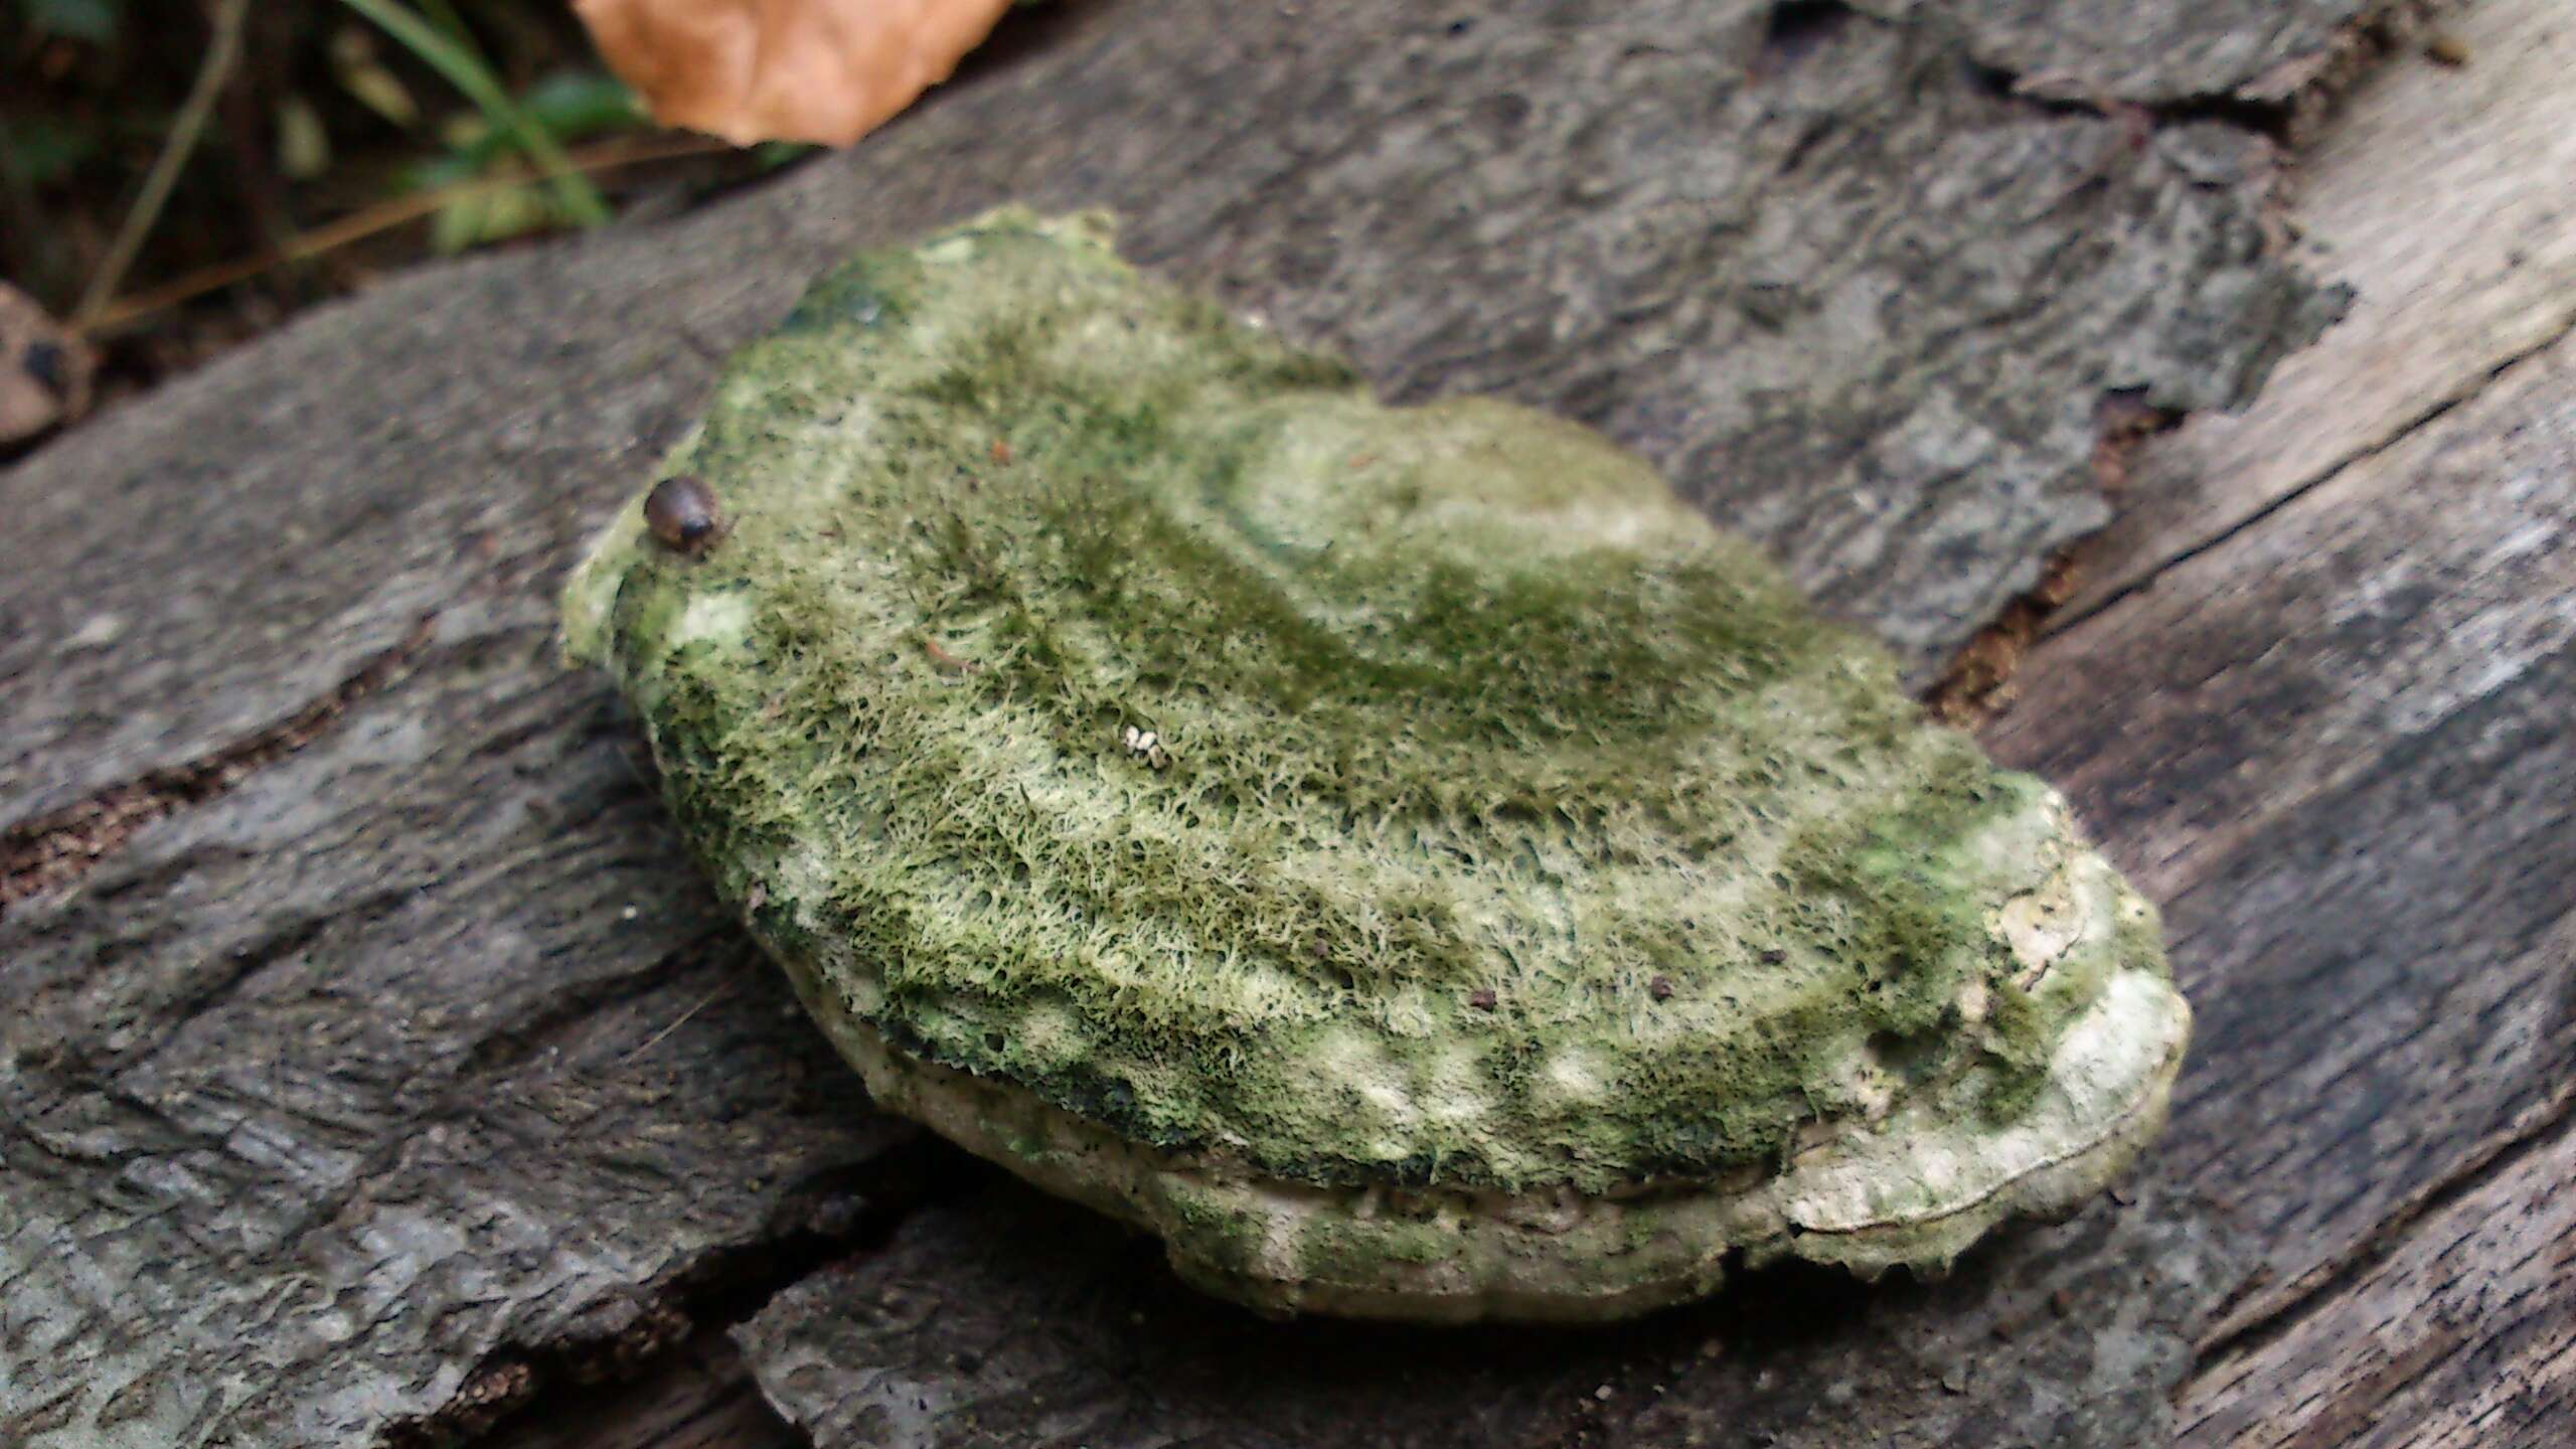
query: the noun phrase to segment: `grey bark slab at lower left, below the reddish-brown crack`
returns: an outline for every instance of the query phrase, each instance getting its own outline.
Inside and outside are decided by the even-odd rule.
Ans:
[[[0,923],[0,1444],[471,1423],[685,1333],[909,1137],[546,637],[451,603],[410,681]]]

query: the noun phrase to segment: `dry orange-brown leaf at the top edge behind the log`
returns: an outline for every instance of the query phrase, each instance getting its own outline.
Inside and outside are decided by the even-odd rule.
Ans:
[[[1010,0],[572,0],[657,121],[845,147],[930,90]]]

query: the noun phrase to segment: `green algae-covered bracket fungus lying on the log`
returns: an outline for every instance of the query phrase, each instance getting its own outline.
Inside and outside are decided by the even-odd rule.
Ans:
[[[884,1106],[1211,1292],[1937,1269],[2164,1116],[2058,794],[1600,436],[1378,405],[1100,219],[860,255],[665,474],[567,629],[716,887]]]

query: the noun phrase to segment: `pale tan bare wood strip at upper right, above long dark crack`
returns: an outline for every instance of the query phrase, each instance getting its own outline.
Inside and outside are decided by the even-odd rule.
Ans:
[[[2058,629],[2576,325],[2576,13],[2481,0],[2442,34],[2468,46],[2465,67],[2398,57],[2298,160],[2293,255],[2352,284],[2352,312],[2244,413],[2143,449]]]

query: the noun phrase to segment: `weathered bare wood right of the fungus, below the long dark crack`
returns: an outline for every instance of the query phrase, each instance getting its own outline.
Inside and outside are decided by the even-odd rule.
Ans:
[[[2416,1217],[2576,1104],[2576,338],[2050,639],[2025,681],[1999,753],[2169,902],[2200,1036],[2159,1163],[2228,1201],[2272,1279],[2218,1341],[2313,1351],[2367,1312],[2357,1266],[2458,1235]],[[2527,1266],[2447,1271],[2476,1297]],[[2439,1354],[2501,1354],[2509,1328],[2463,1320]],[[2259,1415],[2208,1382],[2246,1372],[2195,1379],[2233,1405],[2205,1423]],[[2463,1441],[2558,1441],[2535,1423]],[[2318,1434],[2295,1441],[2344,1441]]]

